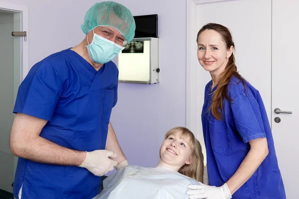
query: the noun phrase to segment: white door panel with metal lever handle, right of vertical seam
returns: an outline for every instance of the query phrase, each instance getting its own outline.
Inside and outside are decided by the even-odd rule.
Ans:
[[[272,6],[272,132],[287,199],[298,199],[299,1],[273,0]],[[275,108],[293,113],[276,114]]]

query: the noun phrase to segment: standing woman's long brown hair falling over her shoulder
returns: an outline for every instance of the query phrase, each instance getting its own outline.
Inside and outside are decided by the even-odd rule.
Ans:
[[[229,29],[223,25],[217,24],[217,23],[208,23],[204,25],[197,33],[196,42],[198,41],[199,35],[205,31],[205,30],[215,30],[217,31],[221,36],[225,43],[226,49],[229,49],[231,46],[235,49],[235,43],[233,41],[233,37]],[[220,74],[218,87],[217,89],[212,93],[212,103],[210,106],[210,110],[212,110],[212,114],[217,120],[221,120],[222,114],[222,108],[223,108],[223,99],[227,99],[230,102],[232,99],[228,95],[228,83],[230,82],[231,78],[235,76],[238,78],[240,82],[243,83],[245,88],[245,80],[242,78],[242,76],[237,71],[237,66],[235,64],[235,56],[232,53],[232,55],[229,57],[228,62],[226,64],[226,67],[224,71]],[[238,84],[239,84],[238,83]]]

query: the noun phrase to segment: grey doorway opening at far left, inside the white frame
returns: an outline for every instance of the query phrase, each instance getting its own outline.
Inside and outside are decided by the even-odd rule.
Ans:
[[[18,17],[20,18],[20,17]],[[14,31],[20,20],[9,10],[0,10],[0,196],[12,193],[11,184],[14,179],[14,156],[9,150],[9,132],[13,121],[11,112],[14,105],[14,87],[20,84],[20,68],[14,68]],[[15,46],[17,47],[17,46]],[[16,49],[15,49],[16,50]],[[15,58],[17,59],[17,58]],[[17,71],[15,71],[17,70]],[[16,77],[14,77],[14,73]],[[15,85],[16,84],[16,85]],[[0,197],[0,198],[1,198]]]

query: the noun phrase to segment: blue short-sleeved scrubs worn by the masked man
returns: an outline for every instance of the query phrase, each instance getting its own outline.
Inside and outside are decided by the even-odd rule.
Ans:
[[[21,83],[14,113],[48,120],[40,136],[78,150],[105,149],[112,107],[117,102],[118,69],[110,61],[96,71],[67,49],[35,64]],[[13,194],[18,199],[92,199],[101,177],[85,168],[18,159]]]

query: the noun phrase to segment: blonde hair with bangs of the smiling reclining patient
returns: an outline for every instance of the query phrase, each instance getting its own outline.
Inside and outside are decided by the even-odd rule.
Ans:
[[[203,183],[203,154],[200,142],[195,138],[194,134],[185,127],[174,127],[171,128],[166,134],[165,139],[169,137],[169,135],[175,134],[176,132],[181,132],[183,137],[189,137],[190,143],[189,146],[191,148],[190,162],[191,164],[183,165],[178,172],[182,175],[188,176],[190,178],[195,179],[198,182]]]

